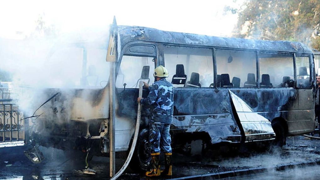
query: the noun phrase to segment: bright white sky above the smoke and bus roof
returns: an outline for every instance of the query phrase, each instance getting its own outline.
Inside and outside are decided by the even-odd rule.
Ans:
[[[19,39],[29,35],[39,14],[46,25],[54,25],[62,34],[83,29],[108,30],[115,15],[118,25],[229,37],[237,15],[223,15],[223,9],[226,5],[239,7],[243,1],[2,1],[0,37]]]

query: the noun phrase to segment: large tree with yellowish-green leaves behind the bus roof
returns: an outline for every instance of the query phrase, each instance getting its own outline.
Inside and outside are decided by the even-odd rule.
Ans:
[[[319,0],[246,0],[238,13],[235,37],[299,41],[320,50]]]

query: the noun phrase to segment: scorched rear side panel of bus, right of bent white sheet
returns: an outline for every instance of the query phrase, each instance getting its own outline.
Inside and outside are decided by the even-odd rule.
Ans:
[[[310,109],[314,102],[307,100],[307,96],[310,96],[307,94],[312,94],[312,91],[312,89],[296,90],[293,88],[230,90],[248,105],[249,111],[252,110],[269,121],[279,117],[284,119],[288,124],[288,135],[308,133],[314,130],[314,109]],[[309,98],[312,99],[312,97]],[[301,103],[304,108],[301,108]]]

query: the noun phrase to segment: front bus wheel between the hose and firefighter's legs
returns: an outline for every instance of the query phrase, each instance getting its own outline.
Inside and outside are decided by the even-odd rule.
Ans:
[[[149,166],[151,164],[151,156],[148,139],[149,130],[142,129],[139,133],[137,144],[129,164],[130,168],[133,171],[144,172],[146,170],[149,170]]]

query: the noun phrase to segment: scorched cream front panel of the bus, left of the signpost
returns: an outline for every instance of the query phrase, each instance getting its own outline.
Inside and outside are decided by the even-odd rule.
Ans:
[[[59,94],[51,100],[51,103],[39,109],[38,113],[44,113],[42,118],[51,119],[50,117],[56,116],[58,121],[83,122],[90,119],[109,118],[108,87],[103,89],[47,89],[44,92],[47,98],[55,93]]]

